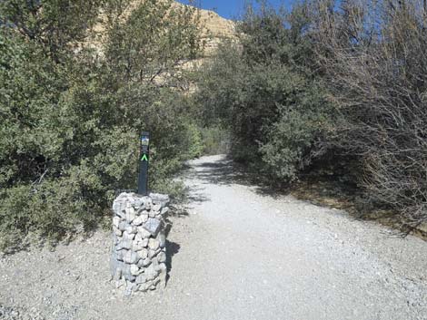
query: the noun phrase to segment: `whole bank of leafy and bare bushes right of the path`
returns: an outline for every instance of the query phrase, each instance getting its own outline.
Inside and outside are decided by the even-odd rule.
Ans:
[[[233,158],[270,181],[343,162],[366,202],[425,222],[427,3],[265,3],[199,74],[204,124],[224,123]]]

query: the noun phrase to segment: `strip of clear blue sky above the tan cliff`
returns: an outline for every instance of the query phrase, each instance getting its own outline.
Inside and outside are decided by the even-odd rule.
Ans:
[[[188,4],[188,0],[178,0]],[[290,8],[294,0],[268,0],[270,5],[278,7],[280,4]],[[227,19],[239,18],[243,14],[244,4],[247,0],[196,0],[195,4],[203,9],[214,10],[218,15]]]

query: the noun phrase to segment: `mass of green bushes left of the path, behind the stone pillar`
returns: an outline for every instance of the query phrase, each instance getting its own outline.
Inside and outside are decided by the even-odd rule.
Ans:
[[[98,225],[115,190],[136,186],[144,130],[151,188],[183,193],[171,177],[201,152],[176,89],[187,81],[181,61],[198,50],[194,9],[151,0],[124,18],[125,5],[0,4],[0,246]],[[94,50],[83,44],[101,11],[114,23]]]

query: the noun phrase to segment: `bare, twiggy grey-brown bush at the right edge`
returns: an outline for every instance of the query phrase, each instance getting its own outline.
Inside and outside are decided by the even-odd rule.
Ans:
[[[371,199],[427,219],[425,1],[312,3],[320,67],[337,103],[333,144],[362,163]]]

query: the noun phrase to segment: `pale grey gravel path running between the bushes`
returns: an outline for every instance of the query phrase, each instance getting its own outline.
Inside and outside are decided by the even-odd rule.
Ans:
[[[166,289],[131,298],[114,289],[110,238],[97,232],[1,258],[0,318],[427,319],[426,242],[265,195],[220,156],[191,165],[189,215],[173,218],[168,236]]]

